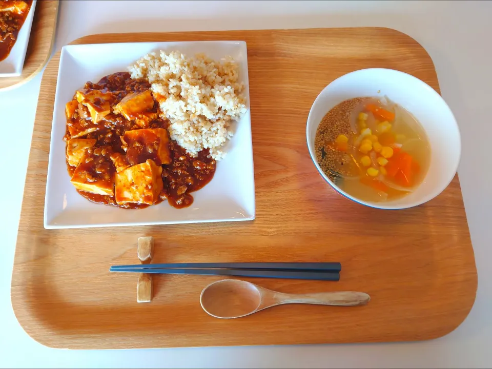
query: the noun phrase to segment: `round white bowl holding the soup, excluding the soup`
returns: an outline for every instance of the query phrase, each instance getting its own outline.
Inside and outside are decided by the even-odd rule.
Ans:
[[[424,180],[413,193],[387,202],[362,201],[342,191],[323,173],[314,153],[314,138],[323,116],[342,101],[385,95],[411,112],[424,128],[430,144],[430,166]],[[379,209],[411,208],[433,199],[455,176],[461,155],[458,125],[442,97],[420,79],[392,69],[358,70],[326,86],[309,112],[306,137],[316,169],[333,189],[348,199]]]

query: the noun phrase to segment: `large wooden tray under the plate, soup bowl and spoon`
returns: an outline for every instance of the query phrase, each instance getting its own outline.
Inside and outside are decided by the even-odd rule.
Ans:
[[[52,347],[142,348],[414,341],[454,330],[477,289],[458,177],[423,206],[366,208],[324,183],[305,142],[311,104],[345,73],[393,68],[439,91],[425,50],[385,28],[105,34],[74,43],[183,40],[247,42],[256,220],[45,230],[58,53],[39,94],[12,276],[12,305],[26,332]],[[203,287],[219,277],[158,276],[154,301],[137,304],[137,275],[108,268],[137,263],[136,241],[145,235],[156,238],[154,262],[340,261],[340,282],[250,280],[281,292],[363,291],[372,300],[220,320],[199,304]]]

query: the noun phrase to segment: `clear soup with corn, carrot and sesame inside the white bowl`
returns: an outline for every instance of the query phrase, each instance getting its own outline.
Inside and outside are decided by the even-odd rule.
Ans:
[[[413,192],[430,163],[425,131],[387,97],[345,100],[321,120],[316,159],[343,191],[363,201],[390,201]]]

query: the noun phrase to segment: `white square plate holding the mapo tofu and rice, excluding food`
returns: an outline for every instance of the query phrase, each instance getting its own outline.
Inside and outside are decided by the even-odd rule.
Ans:
[[[217,162],[213,179],[197,192],[188,208],[174,209],[167,201],[145,209],[130,210],[95,204],[77,193],[70,183],[65,163],[65,104],[87,81],[127,71],[135,60],[152,51],[180,51],[188,56],[205,53],[214,59],[232,56],[239,65],[240,81],[248,111],[233,125],[234,137],[226,146],[227,155]],[[50,157],[46,182],[44,226],[85,228],[144,226],[252,220],[255,218],[255,183],[251,115],[249,105],[246,43],[180,42],[70,45],[61,50],[56,86]]]

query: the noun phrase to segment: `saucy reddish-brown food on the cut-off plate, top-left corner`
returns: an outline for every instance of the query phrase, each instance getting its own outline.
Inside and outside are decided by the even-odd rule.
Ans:
[[[32,0],[0,1],[0,61],[9,56],[31,9]]]

